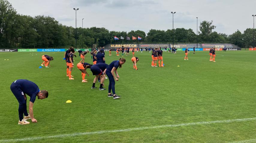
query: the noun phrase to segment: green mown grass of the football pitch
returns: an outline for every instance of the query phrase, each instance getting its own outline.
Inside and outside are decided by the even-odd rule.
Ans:
[[[54,60],[50,68],[39,69],[44,54]],[[107,97],[107,90],[91,89],[91,71],[85,77],[88,83],[81,82],[76,68],[80,57],[74,57],[75,80],[68,80],[64,52],[44,54],[0,53],[0,142],[256,142],[254,51],[217,51],[216,63],[209,61],[208,52],[190,51],[189,60],[183,51],[164,52],[163,68],[150,66],[148,52],[135,52],[138,71],[132,68],[130,53],[118,69],[117,100]],[[108,64],[121,57],[108,54]],[[85,62],[92,63],[90,55]],[[34,103],[37,123],[18,125],[19,104],[10,91],[17,79],[49,91],[48,98]],[[108,84],[105,80],[105,88]],[[230,119],[242,120],[224,121]]]

